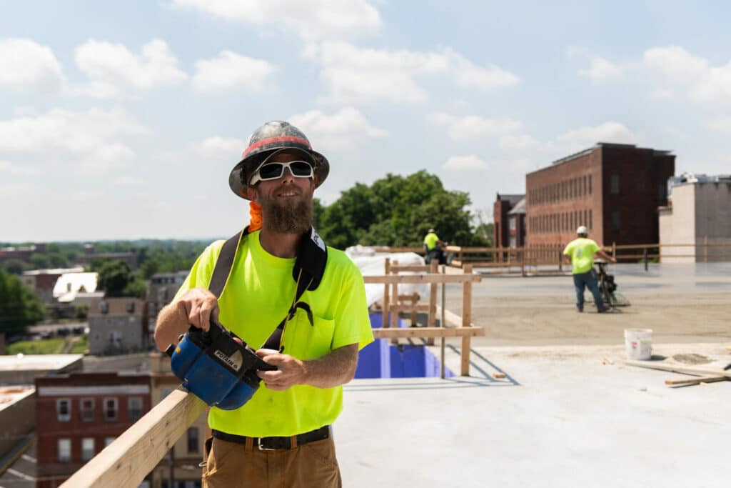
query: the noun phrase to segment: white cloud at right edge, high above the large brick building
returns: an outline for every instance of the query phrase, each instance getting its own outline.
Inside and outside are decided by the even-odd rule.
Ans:
[[[692,100],[731,101],[731,61],[711,67],[707,59],[693,56],[679,46],[645,50],[643,61],[649,69],[660,72],[666,83],[686,87]]]

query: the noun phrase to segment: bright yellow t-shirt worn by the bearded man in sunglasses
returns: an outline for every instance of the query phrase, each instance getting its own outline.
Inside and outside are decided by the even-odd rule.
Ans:
[[[241,242],[226,288],[219,299],[219,320],[256,350],[287,315],[295,298],[292,269],[295,259],[277,258],[261,247],[259,232]],[[208,288],[213,267],[224,241],[216,241],[194,263],[175,298],[191,288]],[[306,291],[300,301],[312,310],[314,326],[298,308],[287,323],[284,354],[307,360],[330,350],[373,341],[366,290],[360,269],[344,252],[327,248],[327,266],[317,290]],[[332,424],[343,406],[343,388],[295,385],[272,391],[260,384],[241,408],[211,408],[211,429],[249,437],[289,436]]]

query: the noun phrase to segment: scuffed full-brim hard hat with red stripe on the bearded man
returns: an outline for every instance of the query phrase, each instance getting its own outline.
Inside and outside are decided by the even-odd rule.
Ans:
[[[330,173],[330,163],[322,154],[312,150],[307,136],[289,122],[275,120],[267,122],[254,130],[249,136],[246,150],[241,160],[233,167],[229,175],[229,186],[232,192],[246,198],[251,176],[269,158],[280,152],[301,156],[314,169],[315,188],[319,187]]]

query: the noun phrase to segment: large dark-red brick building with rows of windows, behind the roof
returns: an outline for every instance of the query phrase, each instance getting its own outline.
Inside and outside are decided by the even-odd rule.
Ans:
[[[526,175],[529,247],[561,246],[586,225],[599,244],[659,241],[658,208],[675,173],[670,151],[597,143]]]

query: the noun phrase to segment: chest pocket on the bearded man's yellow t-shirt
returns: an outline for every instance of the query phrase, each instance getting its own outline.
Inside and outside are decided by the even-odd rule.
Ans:
[[[310,323],[307,312],[298,308],[284,329],[284,354],[303,361],[321,358],[330,352],[334,331],[334,320],[313,314]]]

